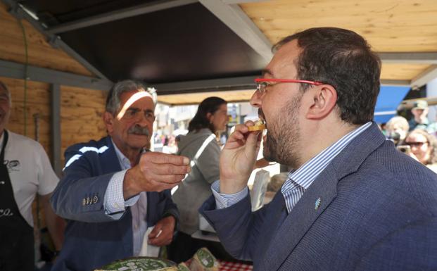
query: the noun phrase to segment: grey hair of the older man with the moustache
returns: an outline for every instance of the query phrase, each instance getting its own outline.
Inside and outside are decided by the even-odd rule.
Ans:
[[[120,110],[121,95],[125,92],[149,92],[152,95],[153,103],[156,104],[155,93],[146,88],[143,83],[134,80],[124,80],[117,82],[110,88],[108,97],[106,98],[105,110],[113,115],[116,115]]]

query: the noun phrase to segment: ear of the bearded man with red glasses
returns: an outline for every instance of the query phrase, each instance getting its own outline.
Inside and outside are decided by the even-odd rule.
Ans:
[[[312,104],[306,117],[319,120],[331,113],[337,103],[337,91],[329,84],[322,84],[312,89]]]

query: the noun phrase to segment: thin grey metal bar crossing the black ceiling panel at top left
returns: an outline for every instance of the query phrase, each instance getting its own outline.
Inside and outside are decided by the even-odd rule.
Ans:
[[[99,25],[101,23],[108,23],[114,20],[121,20],[141,14],[152,13],[155,11],[161,11],[167,8],[175,8],[177,6],[184,6],[188,4],[197,3],[197,0],[163,0],[147,4],[141,4],[138,6],[132,6],[130,8],[123,8],[119,11],[111,11],[99,15],[94,15],[89,18],[75,20],[70,23],[63,23],[56,27],[51,27],[47,32],[51,34],[58,34],[68,32],[71,30],[77,30],[91,25]]]

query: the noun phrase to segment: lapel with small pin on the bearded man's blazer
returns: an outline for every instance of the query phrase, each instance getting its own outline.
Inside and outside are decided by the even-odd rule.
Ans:
[[[356,172],[369,154],[384,141],[384,135],[373,123],[332,160],[312,182],[279,226],[277,233],[273,235],[261,270],[279,270],[315,220],[336,198],[337,183],[346,175]]]

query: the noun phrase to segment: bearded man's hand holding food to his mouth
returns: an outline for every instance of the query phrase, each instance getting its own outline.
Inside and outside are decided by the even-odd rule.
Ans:
[[[247,186],[261,144],[261,131],[248,132],[248,121],[236,125],[220,154],[220,193],[235,194]]]

